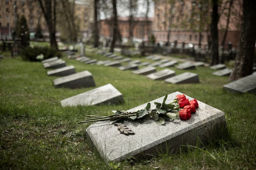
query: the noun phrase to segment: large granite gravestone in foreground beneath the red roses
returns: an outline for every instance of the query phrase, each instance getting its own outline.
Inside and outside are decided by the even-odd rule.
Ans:
[[[180,94],[182,93],[169,94],[166,104],[173,102],[176,95]],[[193,99],[186,97],[189,100]],[[154,102],[162,103],[163,100],[164,96],[151,101],[151,108],[155,108]],[[127,111],[140,110],[145,108],[147,103]],[[196,146],[198,139],[206,144],[210,139],[221,135],[222,130],[225,129],[225,113],[200,101],[198,104],[196,113],[186,121],[166,122],[164,125],[158,125],[151,119],[141,124],[135,121],[124,121],[124,125],[135,133],[129,136],[120,134],[117,126],[110,125],[109,121],[99,121],[85,130],[86,137],[106,162],[119,162],[128,157],[145,159],[150,155],[159,155],[159,150],[164,153],[167,151],[175,153],[182,145]]]

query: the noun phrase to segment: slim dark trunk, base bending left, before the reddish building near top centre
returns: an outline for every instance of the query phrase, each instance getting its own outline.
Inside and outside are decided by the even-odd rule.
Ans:
[[[118,24],[117,24],[117,0],[112,0],[113,5],[113,39],[110,46],[110,52],[114,52],[115,43],[118,35]]]

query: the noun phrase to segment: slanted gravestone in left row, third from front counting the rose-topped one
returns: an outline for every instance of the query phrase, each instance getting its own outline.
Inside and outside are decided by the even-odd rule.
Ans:
[[[94,79],[89,71],[82,71],[72,75],[67,75],[54,79],[54,86],[67,88],[94,87]]]

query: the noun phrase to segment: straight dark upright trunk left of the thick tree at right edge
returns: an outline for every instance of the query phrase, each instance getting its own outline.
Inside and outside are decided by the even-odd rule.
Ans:
[[[211,65],[219,64],[218,50],[218,0],[212,0],[211,15]]]

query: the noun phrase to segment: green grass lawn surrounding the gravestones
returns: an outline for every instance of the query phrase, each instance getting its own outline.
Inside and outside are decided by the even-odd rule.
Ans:
[[[91,58],[107,57],[87,53]],[[6,55],[4,55],[6,56]],[[144,58],[139,59],[141,62]],[[63,108],[60,101],[94,89],[55,88],[40,62],[25,62],[20,57],[0,61],[0,169],[71,170],[255,170],[256,169],[256,95],[225,91],[228,77],[211,75],[214,70],[197,67],[191,72],[199,84],[166,84],[118,68],[87,65],[64,57],[76,72],[88,70],[97,85],[112,84],[124,97],[117,106],[77,106]],[[158,68],[161,70],[164,68]],[[171,68],[176,74],[184,71]],[[92,150],[85,139],[90,125],[77,124],[85,115],[110,115],[111,110],[133,108],[158,97],[180,91],[225,112],[226,137],[197,147],[184,146],[177,154],[161,153],[145,161],[126,159],[109,165]]]

